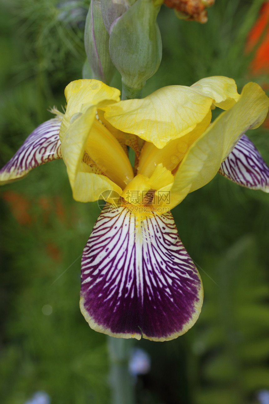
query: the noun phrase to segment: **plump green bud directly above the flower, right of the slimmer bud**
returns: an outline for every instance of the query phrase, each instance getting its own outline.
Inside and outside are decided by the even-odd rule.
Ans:
[[[142,89],[161,63],[159,9],[152,0],[137,0],[111,25],[109,52],[125,88]]]

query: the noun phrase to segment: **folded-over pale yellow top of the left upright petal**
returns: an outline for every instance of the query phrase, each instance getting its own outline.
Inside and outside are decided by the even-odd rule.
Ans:
[[[120,91],[117,88],[109,87],[98,80],[75,80],[65,88],[67,109],[62,121],[60,139],[69,125],[79,116],[83,110],[90,105],[107,105],[120,100]],[[71,120],[71,122],[70,122]]]

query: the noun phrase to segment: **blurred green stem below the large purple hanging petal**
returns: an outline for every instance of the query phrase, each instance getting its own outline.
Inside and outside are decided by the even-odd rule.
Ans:
[[[128,370],[131,339],[108,337],[112,404],[134,404],[134,388]]]

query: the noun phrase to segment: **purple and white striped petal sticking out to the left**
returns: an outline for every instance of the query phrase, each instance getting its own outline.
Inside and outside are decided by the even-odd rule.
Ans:
[[[13,158],[0,170],[1,185],[24,177],[30,170],[48,161],[62,158],[59,139],[62,117],[63,114],[58,113],[27,137]]]

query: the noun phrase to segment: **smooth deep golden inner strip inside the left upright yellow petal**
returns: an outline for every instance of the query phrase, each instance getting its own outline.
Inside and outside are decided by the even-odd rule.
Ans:
[[[88,155],[104,174],[122,189],[133,179],[133,168],[117,139],[94,119],[85,146]]]

